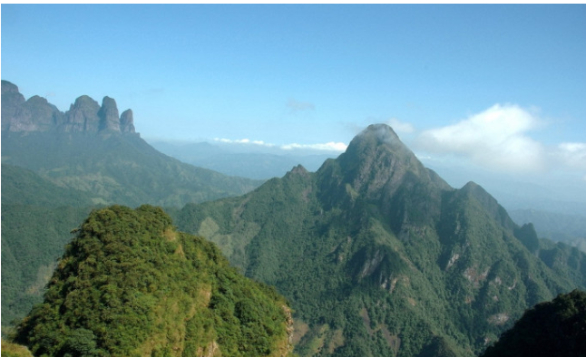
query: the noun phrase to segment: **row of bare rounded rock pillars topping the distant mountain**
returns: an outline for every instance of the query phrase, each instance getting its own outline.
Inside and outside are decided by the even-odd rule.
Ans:
[[[24,101],[18,87],[7,81],[2,81],[2,130],[136,133],[132,111],[119,116],[116,101],[110,97],[103,97],[100,106],[83,95],[63,113],[37,95]]]

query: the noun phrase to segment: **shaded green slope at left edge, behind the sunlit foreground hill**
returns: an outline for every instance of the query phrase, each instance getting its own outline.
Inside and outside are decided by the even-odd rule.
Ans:
[[[55,258],[90,212],[83,191],[61,188],[34,172],[2,165],[2,326],[41,301]]]

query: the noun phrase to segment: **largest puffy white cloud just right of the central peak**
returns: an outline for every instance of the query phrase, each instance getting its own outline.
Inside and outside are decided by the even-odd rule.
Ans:
[[[416,146],[434,153],[453,153],[491,169],[545,169],[543,145],[527,132],[540,124],[531,112],[512,104],[495,104],[454,125],[425,130]]]

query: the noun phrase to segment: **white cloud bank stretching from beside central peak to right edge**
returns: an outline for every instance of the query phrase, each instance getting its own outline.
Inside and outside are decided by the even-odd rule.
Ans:
[[[415,149],[435,157],[455,155],[507,172],[578,171],[586,180],[586,142],[546,145],[530,135],[542,126],[530,110],[495,104],[452,125],[419,133]]]

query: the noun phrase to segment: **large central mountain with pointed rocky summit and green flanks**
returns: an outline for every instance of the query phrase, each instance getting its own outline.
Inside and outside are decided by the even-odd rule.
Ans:
[[[386,125],[315,173],[186,205],[175,222],[288,298],[302,356],[473,356],[586,285],[583,253],[542,246],[473,182],[451,188]]]

